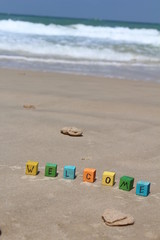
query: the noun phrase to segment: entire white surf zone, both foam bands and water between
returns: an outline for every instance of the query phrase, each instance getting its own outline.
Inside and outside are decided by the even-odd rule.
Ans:
[[[0,61],[158,65],[160,31],[0,20]]]

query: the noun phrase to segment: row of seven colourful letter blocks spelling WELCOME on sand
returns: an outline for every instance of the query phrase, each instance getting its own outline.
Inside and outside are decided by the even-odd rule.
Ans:
[[[28,161],[26,163],[26,174],[37,175],[38,162]],[[102,185],[113,186],[115,184],[115,172],[103,172]],[[45,176],[56,177],[57,176],[57,164],[46,163]],[[63,177],[66,179],[75,179],[76,167],[65,166],[63,171]],[[93,183],[96,180],[96,169],[85,168],[83,171],[83,181]],[[130,191],[133,189],[134,178],[129,176],[123,176],[119,181],[119,189]],[[148,196],[150,193],[150,182],[138,181],[136,185],[136,194],[140,196]]]

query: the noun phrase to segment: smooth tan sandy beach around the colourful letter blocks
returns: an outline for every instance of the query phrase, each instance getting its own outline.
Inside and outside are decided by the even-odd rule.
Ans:
[[[0,239],[160,239],[160,84],[0,69],[0,112]],[[65,126],[83,137],[61,134]],[[28,160],[37,176],[25,175]],[[56,178],[44,176],[47,162]],[[65,165],[75,180],[63,178]],[[96,169],[94,183],[84,168]],[[103,171],[116,172],[113,187],[102,186]],[[123,175],[134,177],[129,192],[119,190]],[[151,182],[148,197],[136,195],[139,180]],[[106,208],[135,224],[106,226]]]

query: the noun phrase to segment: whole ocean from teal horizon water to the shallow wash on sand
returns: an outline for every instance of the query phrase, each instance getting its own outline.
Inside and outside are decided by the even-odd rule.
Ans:
[[[160,81],[160,24],[0,14],[0,67]]]

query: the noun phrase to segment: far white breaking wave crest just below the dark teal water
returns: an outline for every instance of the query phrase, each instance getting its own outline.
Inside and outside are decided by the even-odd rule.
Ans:
[[[126,27],[100,27],[77,25],[44,25],[13,20],[1,20],[0,31],[41,36],[72,36],[108,39],[127,43],[160,46],[160,32],[156,29],[130,29]]]

